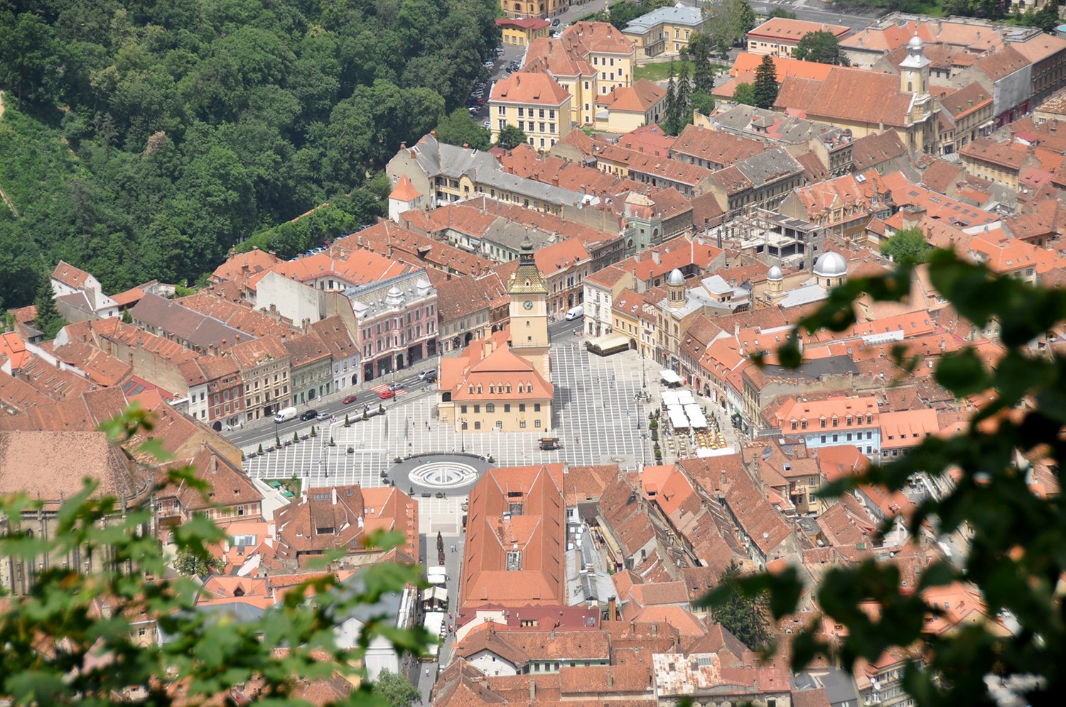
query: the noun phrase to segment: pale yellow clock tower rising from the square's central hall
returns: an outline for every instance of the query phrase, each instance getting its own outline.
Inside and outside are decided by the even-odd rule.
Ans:
[[[518,269],[507,283],[511,295],[511,350],[522,357],[551,380],[548,350],[548,285],[536,269],[533,242],[529,234],[519,247]]]

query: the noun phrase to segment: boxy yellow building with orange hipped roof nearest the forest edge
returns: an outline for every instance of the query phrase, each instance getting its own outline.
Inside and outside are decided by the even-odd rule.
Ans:
[[[508,125],[526,133],[530,146],[546,152],[570,132],[570,95],[547,73],[519,71],[497,81],[488,98],[492,142]]]

